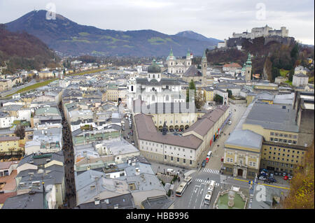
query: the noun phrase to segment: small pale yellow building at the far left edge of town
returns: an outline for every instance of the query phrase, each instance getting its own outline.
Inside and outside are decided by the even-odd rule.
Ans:
[[[0,137],[0,153],[5,154],[18,154],[20,151],[24,151],[24,148],[20,146],[20,137],[17,136],[2,136]]]

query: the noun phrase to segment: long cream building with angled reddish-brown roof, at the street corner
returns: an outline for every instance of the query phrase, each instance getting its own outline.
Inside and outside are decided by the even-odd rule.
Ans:
[[[164,164],[197,167],[229,118],[228,106],[203,115],[183,136],[158,132],[152,115],[134,115],[141,154]]]

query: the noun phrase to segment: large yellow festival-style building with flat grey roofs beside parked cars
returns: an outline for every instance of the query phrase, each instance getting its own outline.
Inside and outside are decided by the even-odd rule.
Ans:
[[[225,173],[253,178],[255,173],[258,174],[259,168],[293,173],[295,168],[302,166],[307,147],[304,146],[305,141],[299,139],[300,127],[295,116],[296,111],[292,105],[262,103],[255,99],[248,106],[241,123],[225,142]],[[246,136],[249,133],[251,136]],[[258,143],[258,138],[261,138],[262,143]],[[251,142],[252,145],[248,146],[246,142]],[[253,157],[253,148],[256,148],[256,169],[245,174],[246,168],[235,164],[235,160],[238,160],[236,153],[246,157],[247,163],[247,159],[249,161],[250,157]],[[228,161],[230,159],[232,162]],[[247,168],[253,167],[253,161],[246,165]]]

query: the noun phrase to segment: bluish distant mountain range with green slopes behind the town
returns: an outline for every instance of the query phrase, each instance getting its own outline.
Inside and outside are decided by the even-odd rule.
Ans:
[[[6,23],[9,31],[26,31],[63,55],[102,56],[167,56],[170,48],[174,55],[194,55],[213,49],[220,40],[207,38],[193,31],[175,35],[162,34],[151,29],[116,31],[81,25],[56,14],[55,20],[46,20],[46,10],[34,10]]]

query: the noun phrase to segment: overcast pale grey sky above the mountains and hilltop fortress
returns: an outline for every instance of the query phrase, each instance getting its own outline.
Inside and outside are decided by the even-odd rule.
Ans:
[[[0,0],[0,23],[31,10],[48,9],[78,24],[100,29],[154,29],[164,34],[192,30],[207,37],[232,37],[253,27],[280,29],[314,45],[314,0]]]

